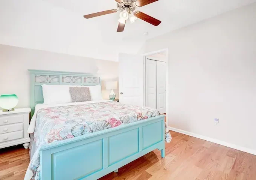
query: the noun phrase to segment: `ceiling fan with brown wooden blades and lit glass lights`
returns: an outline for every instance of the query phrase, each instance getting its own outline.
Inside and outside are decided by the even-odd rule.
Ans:
[[[128,20],[128,18],[130,19],[131,23],[134,23],[134,21],[136,21],[137,18],[143,21],[146,21],[154,26],[158,26],[161,23],[161,21],[143,12],[140,12],[139,10],[134,12],[134,10],[137,7],[142,7],[150,3],[154,3],[155,1],[158,1],[158,0],[115,0],[115,1],[117,2],[117,9],[105,10],[102,12],[96,12],[96,13],[84,15],[84,18],[89,19],[89,18],[106,15],[106,14],[120,12],[120,19],[118,20],[119,24],[117,27],[117,32],[122,32],[124,30],[126,20]]]

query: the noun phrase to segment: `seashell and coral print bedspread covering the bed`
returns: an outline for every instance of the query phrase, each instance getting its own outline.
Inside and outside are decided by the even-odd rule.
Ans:
[[[37,112],[34,143],[37,150],[27,169],[25,180],[40,180],[40,147],[54,141],[117,127],[121,124],[159,115],[148,107],[120,104],[116,101],[42,108]],[[171,141],[166,127],[165,141]]]

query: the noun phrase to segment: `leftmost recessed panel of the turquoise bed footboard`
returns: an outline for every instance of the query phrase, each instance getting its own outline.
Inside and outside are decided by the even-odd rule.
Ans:
[[[76,179],[103,168],[103,140],[52,154],[52,179]],[[69,164],[69,165],[67,165]]]

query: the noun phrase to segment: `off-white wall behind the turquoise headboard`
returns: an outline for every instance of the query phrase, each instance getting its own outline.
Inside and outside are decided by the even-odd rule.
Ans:
[[[118,65],[118,62],[0,45],[0,95],[14,93],[19,98],[17,107],[30,107],[27,69],[39,69],[97,74],[102,80],[102,96],[109,99],[105,81],[118,81]],[[118,90],[115,93],[118,98]]]

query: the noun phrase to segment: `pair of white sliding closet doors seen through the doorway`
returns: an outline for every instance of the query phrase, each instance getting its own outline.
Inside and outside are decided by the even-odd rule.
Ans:
[[[146,59],[146,106],[166,113],[166,63]]]

